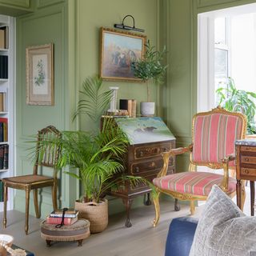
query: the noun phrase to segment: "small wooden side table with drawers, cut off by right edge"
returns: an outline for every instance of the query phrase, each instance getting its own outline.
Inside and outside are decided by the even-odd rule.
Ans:
[[[241,180],[250,181],[250,214],[254,216],[254,199],[256,181],[256,139],[242,139],[235,142],[237,205],[241,209]]]

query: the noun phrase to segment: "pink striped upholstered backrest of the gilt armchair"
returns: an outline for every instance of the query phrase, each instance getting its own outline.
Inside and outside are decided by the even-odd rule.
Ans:
[[[242,138],[242,118],[229,114],[198,115],[194,119],[193,162],[221,162],[234,154],[234,141]],[[230,162],[234,166],[234,161]]]

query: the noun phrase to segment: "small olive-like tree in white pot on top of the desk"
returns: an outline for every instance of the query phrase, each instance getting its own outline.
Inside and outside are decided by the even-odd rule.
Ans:
[[[150,45],[150,41],[146,42],[146,51],[142,58],[134,59],[131,68],[134,70],[134,76],[146,82],[147,102],[141,102],[142,116],[154,115],[154,102],[150,102],[150,84],[152,79],[155,85],[162,84],[167,65],[163,65],[163,58],[166,54],[166,47],[161,51],[155,50],[155,46]]]

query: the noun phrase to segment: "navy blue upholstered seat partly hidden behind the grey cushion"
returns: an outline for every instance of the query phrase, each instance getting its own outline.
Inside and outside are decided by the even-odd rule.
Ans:
[[[196,218],[174,218],[170,222],[165,256],[189,256],[197,226]]]

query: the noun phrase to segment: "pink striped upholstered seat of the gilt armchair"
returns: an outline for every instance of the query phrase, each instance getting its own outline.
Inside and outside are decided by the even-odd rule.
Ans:
[[[214,184],[220,186],[223,175],[206,172],[183,172],[154,178],[155,186],[162,190],[208,196]],[[229,178],[228,193],[236,190],[236,180]]]

